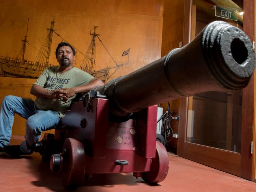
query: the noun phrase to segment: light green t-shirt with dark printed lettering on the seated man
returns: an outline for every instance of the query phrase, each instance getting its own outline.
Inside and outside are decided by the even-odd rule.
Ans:
[[[73,88],[81,85],[88,84],[93,76],[73,67],[65,73],[58,73],[58,66],[51,66],[45,69],[43,73],[38,77],[34,85],[39,85],[47,90],[61,89],[61,88]],[[60,117],[64,117],[64,112],[67,110],[76,95],[70,97],[67,102],[58,101],[50,98],[37,97],[35,104],[39,110],[54,110],[58,111]]]

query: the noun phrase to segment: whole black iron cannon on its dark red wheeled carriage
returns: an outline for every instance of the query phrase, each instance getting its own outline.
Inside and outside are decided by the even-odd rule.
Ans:
[[[159,183],[169,161],[156,141],[156,104],[245,88],[254,68],[247,35],[226,22],[212,22],[184,47],[80,97],[55,136],[45,135],[36,151],[50,158],[50,169],[62,174],[65,188],[78,187],[95,173],[131,172]]]

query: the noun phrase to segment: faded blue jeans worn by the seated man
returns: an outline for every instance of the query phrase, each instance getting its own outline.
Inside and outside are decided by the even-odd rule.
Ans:
[[[60,121],[57,111],[39,110],[31,99],[8,95],[4,97],[0,110],[0,147],[10,145],[15,113],[27,119],[25,140],[20,147],[24,153],[32,153],[41,133],[52,129]]]

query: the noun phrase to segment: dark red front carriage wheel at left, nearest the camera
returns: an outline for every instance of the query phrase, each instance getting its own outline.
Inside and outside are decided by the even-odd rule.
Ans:
[[[62,184],[65,188],[77,188],[84,181],[84,144],[73,138],[65,140],[62,150]]]

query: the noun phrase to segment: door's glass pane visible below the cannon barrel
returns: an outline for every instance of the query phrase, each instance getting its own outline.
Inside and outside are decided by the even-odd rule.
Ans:
[[[189,99],[186,142],[241,153],[242,90]]]

